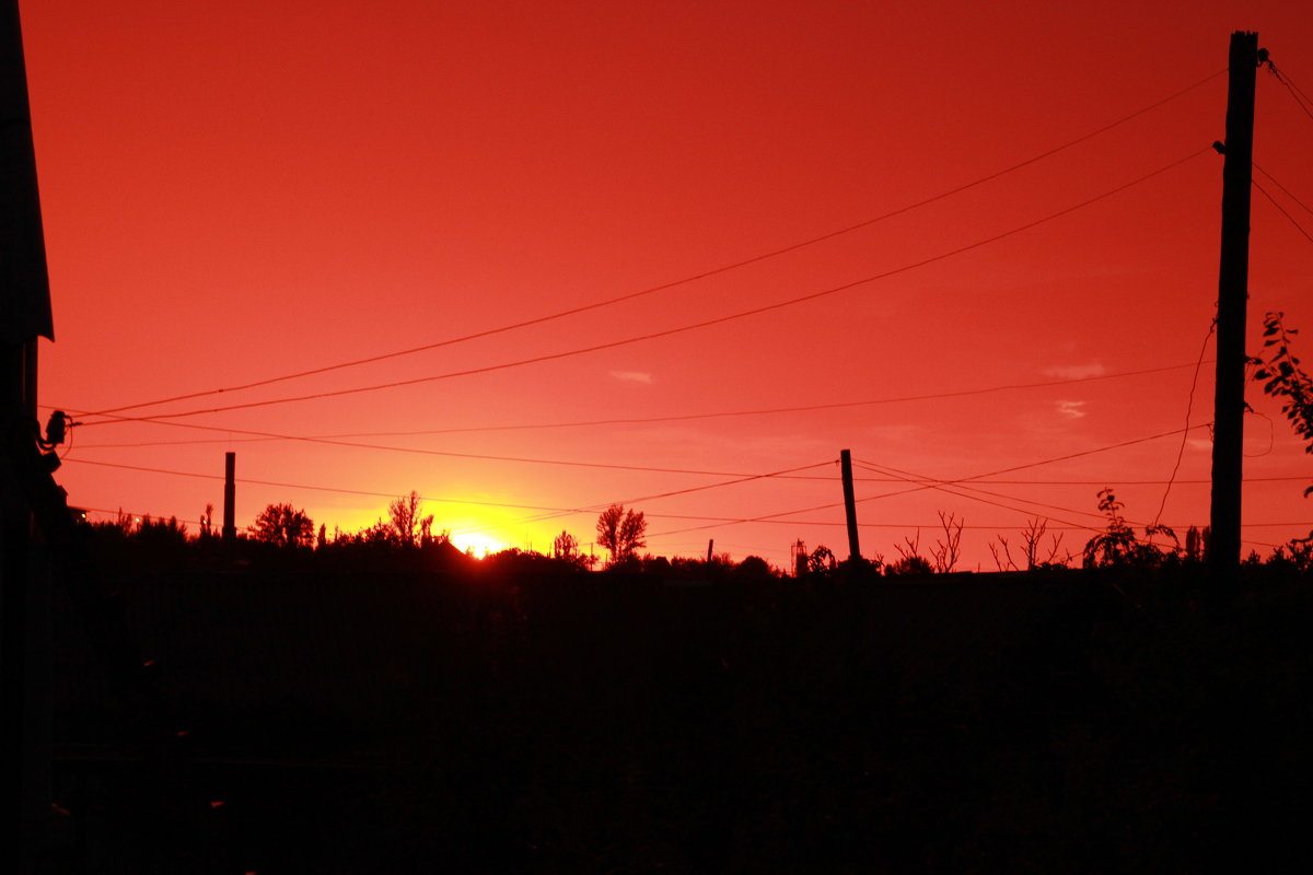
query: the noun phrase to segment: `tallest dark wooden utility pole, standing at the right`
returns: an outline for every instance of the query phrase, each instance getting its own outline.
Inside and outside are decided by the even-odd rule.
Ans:
[[[1230,41],[1226,143],[1222,163],[1222,245],[1217,275],[1217,388],[1213,400],[1213,499],[1209,565],[1221,584],[1239,569],[1239,506],[1245,437],[1245,308],[1249,298],[1249,206],[1254,164],[1254,79],[1258,34]]]

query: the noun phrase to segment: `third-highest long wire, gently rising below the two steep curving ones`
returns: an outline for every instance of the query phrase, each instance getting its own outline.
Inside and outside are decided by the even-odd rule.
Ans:
[[[864,401],[832,401],[829,404],[805,404],[796,407],[773,407],[773,408],[759,408],[751,411],[722,411],[713,413],[683,413],[674,416],[645,416],[645,417],[628,417],[628,418],[611,418],[611,420],[584,420],[576,422],[530,422],[520,425],[488,425],[488,426],[466,426],[466,428],[449,428],[449,429],[420,429],[411,432],[357,432],[347,434],[324,434],[319,437],[326,438],[349,438],[349,437],[412,437],[412,436],[432,436],[432,434],[467,434],[478,432],[520,432],[520,430],[533,430],[533,429],[565,429],[565,428],[588,428],[588,426],[613,426],[613,425],[649,425],[654,422],[684,422],[691,420],[710,420],[710,418],[727,418],[727,417],[741,417],[741,416],[767,416],[777,413],[804,413],[814,411],[832,411],[844,409],[853,407],[871,407],[880,404],[903,404],[909,401],[931,401],[943,400],[949,397],[966,397],[972,395],[987,395],[991,392],[1006,392],[1006,391],[1020,391],[1032,388],[1048,388],[1052,386],[1070,386],[1074,383],[1095,383],[1099,380],[1109,379],[1123,379],[1127,376],[1144,376],[1146,374],[1161,374],[1163,371],[1180,370],[1186,367],[1194,367],[1194,363],[1186,362],[1183,365],[1165,365],[1162,367],[1146,367],[1134,371],[1119,371],[1115,374],[1099,374],[1096,376],[1075,376],[1067,379],[1053,379],[1043,380],[1036,383],[1007,383],[1002,386],[989,386],[985,388],[973,390],[956,390],[949,392],[930,392],[922,395],[903,395],[897,397],[880,397],[869,399]],[[54,408],[53,408],[54,409]],[[67,409],[67,408],[63,408]],[[88,416],[87,413],[79,413],[79,416]],[[118,420],[116,420],[118,421]],[[152,418],[125,418],[121,421],[126,422],[152,422]],[[248,438],[251,441],[268,441],[270,438]],[[105,447],[144,447],[144,446],[179,446],[189,443],[222,443],[223,439],[197,439],[197,441],[142,441],[135,443],[83,443],[81,449],[105,449]]]

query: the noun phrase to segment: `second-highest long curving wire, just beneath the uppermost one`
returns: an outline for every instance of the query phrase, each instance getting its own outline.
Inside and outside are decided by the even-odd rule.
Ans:
[[[993,243],[998,243],[999,240],[1004,240],[1007,237],[1015,236],[1018,234],[1022,234],[1022,232],[1028,231],[1031,228],[1035,228],[1037,226],[1045,224],[1048,222],[1058,219],[1058,218],[1061,218],[1064,215],[1067,215],[1070,213],[1075,213],[1077,210],[1081,210],[1081,209],[1085,209],[1085,207],[1091,206],[1094,203],[1098,203],[1099,201],[1107,199],[1107,198],[1109,198],[1109,197],[1112,197],[1115,194],[1119,194],[1119,193],[1121,193],[1121,192],[1124,192],[1124,190],[1127,190],[1129,188],[1140,185],[1141,182],[1152,180],[1155,176],[1161,176],[1162,173],[1166,173],[1167,171],[1175,169],[1176,167],[1180,167],[1182,164],[1186,164],[1187,161],[1191,161],[1191,160],[1194,160],[1194,159],[1196,159],[1200,155],[1204,155],[1207,152],[1212,152],[1212,147],[1191,152],[1190,155],[1187,155],[1184,157],[1176,159],[1175,161],[1171,161],[1170,164],[1159,167],[1158,169],[1152,171],[1150,173],[1145,173],[1144,176],[1140,176],[1140,177],[1137,177],[1137,178],[1134,178],[1134,180],[1132,180],[1129,182],[1124,182],[1123,185],[1119,185],[1119,186],[1116,186],[1113,189],[1103,192],[1102,194],[1098,194],[1098,195],[1095,195],[1092,198],[1087,198],[1087,199],[1085,199],[1085,201],[1082,201],[1079,203],[1075,203],[1073,206],[1065,207],[1065,209],[1058,210],[1056,213],[1050,213],[1050,214],[1048,214],[1048,215],[1045,215],[1045,216],[1043,216],[1040,219],[1035,219],[1035,220],[1028,222],[1025,224],[1010,228],[1008,231],[1003,231],[1002,234],[997,234],[997,235],[993,235],[990,237],[985,237],[985,239],[977,240],[974,243],[969,243],[969,244],[958,247],[956,249],[941,252],[941,253],[931,256],[928,258],[923,258],[920,261],[915,261],[915,262],[910,262],[910,264],[906,264],[906,265],[902,265],[902,266],[898,266],[898,268],[893,268],[893,269],[885,270],[882,273],[877,273],[877,274],[872,274],[872,275],[868,275],[868,277],[863,277],[860,279],[853,279],[851,282],[846,282],[846,283],[842,283],[842,285],[838,285],[838,286],[831,286],[829,289],[822,289],[821,291],[814,291],[814,293],[810,293],[810,294],[806,294],[806,295],[798,295],[796,298],[789,298],[789,299],[785,299],[785,300],[779,300],[779,302],[775,302],[772,304],[765,304],[765,306],[762,306],[762,307],[754,307],[751,310],[738,311],[738,312],[729,314],[729,315],[725,315],[725,316],[717,316],[716,319],[706,319],[706,320],[697,321],[697,323],[691,323],[691,324],[685,324],[685,325],[678,325],[675,328],[667,328],[667,329],[663,329],[663,331],[649,332],[646,335],[637,335],[634,337],[626,337],[624,340],[608,341],[608,342],[604,342],[604,344],[593,344],[591,346],[582,346],[582,348],[576,348],[576,349],[569,349],[569,350],[563,350],[563,352],[559,352],[559,353],[549,353],[549,354],[545,354],[545,356],[533,356],[530,358],[521,358],[521,359],[516,359],[516,361],[511,361],[511,362],[500,362],[500,363],[496,363],[496,365],[484,365],[482,367],[469,367],[469,369],[458,370],[458,371],[448,371],[445,374],[433,374],[433,375],[429,375],[429,376],[414,376],[414,378],[410,378],[410,379],[391,380],[391,382],[387,382],[387,383],[374,383],[374,384],[370,384],[370,386],[357,386],[357,387],[353,387],[353,388],[331,390],[331,391],[326,391],[326,392],[311,392],[309,395],[295,395],[295,396],[286,396],[286,397],[267,399],[267,400],[263,400],[263,401],[247,401],[247,403],[243,403],[243,404],[228,404],[228,405],[225,405],[225,407],[213,407],[213,408],[204,408],[204,409],[183,411],[183,412],[179,412],[179,413],[158,413],[158,415],[154,415],[154,416],[150,416],[150,417],[119,417],[119,416],[114,416],[112,420],[98,420],[98,421],[93,421],[93,422],[84,422],[83,428],[87,428],[88,425],[104,425],[106,421],[152,421],[154,422],[154,421],[160,421],[160,420],[169,420],[169,418],[184,418],[184,417],[189,417],[189,416],[201,416],[201,415],[205,415],[205,413],[225,413],[225,412],[228,412],[228,411],[243,411],[243,409],[252,409],[252,408],[257,408],[257,407],[272,407],[272,405],[276,405],[276,404],[291,404],[291,403],[297,403],[297,401],[311,401],[311,400],[319,400],[319,399],[326,399],[326,397],[341,397],[344,395],[358,395],[361,392],[377,392],[379,390],[399,388],[399,387],[403,387],[403,386],[416,386],[416,384],[420,384],[420,383],[432,383],[432,382],[436,382],[436,380],[453,379],[453,378],[457,378],[457,376],[471,376],[474,374],[488,374],[488,373],[492,373],[492,371],[507,370],[507,369],[511,369],[511,367],[523,367],[525,365],[537,365],[537,363],[548,362],[548,361],[557,361],[557,359],[562,359],[562,358],[571,358],[571,357],[575,357],[575,356],[583,356],[586,353],[596,353],[596,352],[600,352],[600,350],[604,350],[604,349],[616,349],[618,346],[628,346],[630,344],[637,344],[637,342],[642,342],[642,341],[647,341],[647,340],[656,340],[659,337],[670,337],[672,335],[681,335],[681,333],[685,333],[685,332],[689,332],[689,331],[696,331],[696,329],[700,329],[700,328],[709,328],[712,325],[720,325],[722,323],[734,321],[734,320],[738,320],[738,319],[744,319],[747,316],[755,316],[755,315],[760,315],[760,314],[764,314],[764,312],[771,312],[773,310],[783,310],[785,307],[792,307],[792,306],[796,306],[796,304],[801,304],[801,303],[805,303],[805,302],[809,302],[809,300],[817,300],[818,298],[825,298],[825,296],[829,296],[829,295],[834,295],[834,294],[838,294],[840,291],[847,291],[850,289],[855,289],[857,286],[869,285],[869,283],[877,282],[880,279],[888,279],[889,277],[894,277],[894,275],[898,275],[898,274],[902,274],[902,273],[907,273],[910,270],[915,270],[918,268],[923,268],[926,265],[935,264],[937,261],[944,261],[945,258],[951,258],[953,256],[958,256],[958,254],[962,254],[965,252],[970,252],[973,249],[978,249],[981,247],[985,247],[985,245],[989,245],[989,244],[993,244]],[[126,408],[118,408],[118,409],[126,409]],[[85,413],[85,416],[92,416],[92,413]]]

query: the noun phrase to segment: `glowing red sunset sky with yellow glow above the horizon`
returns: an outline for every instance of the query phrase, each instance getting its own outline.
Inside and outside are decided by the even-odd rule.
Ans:
[[[462,546],[548,550],[562,529],[592,540],[597,512],[622,501],[647,514],[654,554],[702,555],[714,538],[717,552],[777,565],[798,538],[847,554],[842,449],[952,480],[1182,429],[1217,290],[1222,159],[1201,151],[1224,135],[1230,33],[1258,30],[1313,93],[1313,16],[1295,0],[47,0],[24,3],[22,25],[56,336],[42,341],[41,397],[80,412],[433,345],[726,268],[973,182],[1220,73],[1016,172],[748,266],[122,416],[676,329],[949,253],[1194,155],[995,243],[524,366],[171,425],[83,416],[100,424],[76,429],[58,475],[71,504],[194,521],[222,504],[234,450],[239,526],[288,501],[330,531],[355,530],[415,489]],[[1266,71],[1257,115],[1255,161],[1313,205],[1313,117]],[[1313,232],[1313,213],[1257,178]],[[1253,350],[1270,310],[1313,344],[1310,268],[1313,243],[1255,192]],[[1192,425],[1212,416],[1211,382],[1204,365]],[[940,397],[851,404],[914,395]],[[1301,497],[1313,464],[1279,408],[1249,400],[1245,538],[1266,554],[1313,527]],[[850,405],[678,418],[823,404]],[[634,418],[658,421],[542,428]],[[1180,446],[1169,436],[972,484],[1007,506],[880,497],[907,487],[859,468],[863,551],[895,558],[919,526],[928,552],[944,510],[968,526],[961,567],[993,569],[987,544],[1029,517],[1099,525],[1103,485],[1128,518],[1152,521]],[[801,474],[815,479],[647,497],[810,464]],[[1208,471],[1199,429],[1163,522],[1207,522]],[[541,518],[550,509],[578,512]],[[729,522],[769,514],[786,516]],[[1088,535],[1069,530],[1064,546],[1079,552]]]

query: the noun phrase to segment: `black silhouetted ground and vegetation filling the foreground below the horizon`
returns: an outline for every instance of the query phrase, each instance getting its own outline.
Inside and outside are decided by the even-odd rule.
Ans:
[[[1247,567],[1218,603],[1197,564],[781,579],[280,556],[140,571],[110,550],[121,615],[56,605],[45,871],[1309,855],[1313,590],[1293,565]],[[106,622],[152,660],[144,681],[89,643]]]

